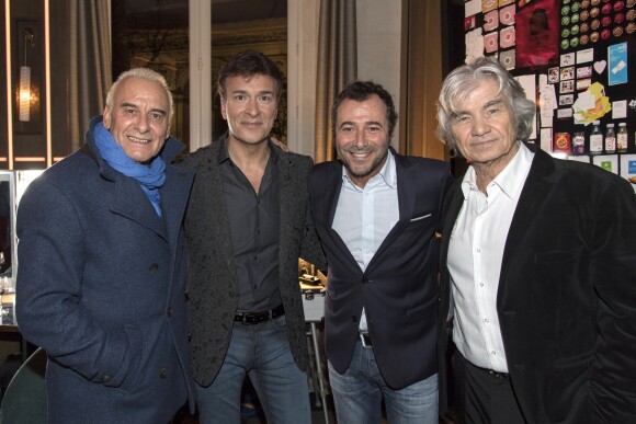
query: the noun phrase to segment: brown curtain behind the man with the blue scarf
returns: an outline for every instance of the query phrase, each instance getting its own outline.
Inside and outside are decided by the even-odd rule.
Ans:
[[[69,149],[83,144],[92,116],[102,113],[113,83],[110,1],[69,1]]]

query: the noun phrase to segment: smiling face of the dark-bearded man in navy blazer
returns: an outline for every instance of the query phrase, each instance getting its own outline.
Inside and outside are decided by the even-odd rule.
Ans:
[[[386,105],[377,96],[344,100],[337,111],[336,147],[349,177],[360,187],[384,167],[388,152]]]

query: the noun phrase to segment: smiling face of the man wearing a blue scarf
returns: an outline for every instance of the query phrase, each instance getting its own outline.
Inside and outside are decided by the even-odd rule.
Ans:
[[[120,82],[113,104],[104,108],[104,127],[137,163],[151,161],[170,135],[170,101],[157,81],[128,77]]]

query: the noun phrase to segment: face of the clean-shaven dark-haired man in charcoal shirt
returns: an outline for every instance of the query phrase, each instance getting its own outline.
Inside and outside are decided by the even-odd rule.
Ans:
[[[229,142],[257,145],[270,136],[276,119],[276,81],[269,76],[228,77],[220,113],[227,121]]]

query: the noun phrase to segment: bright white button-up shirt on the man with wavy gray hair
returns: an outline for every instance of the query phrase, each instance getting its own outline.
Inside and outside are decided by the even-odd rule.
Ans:
[[[534,153],[525,145],[488,184],[477,188],[473,167],[462,182],[464,205],[448,245],[454,301],[453,341],[472,364],[508,373],[497,316],[497,290],[508,230]]]

